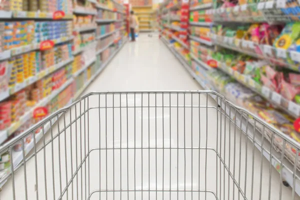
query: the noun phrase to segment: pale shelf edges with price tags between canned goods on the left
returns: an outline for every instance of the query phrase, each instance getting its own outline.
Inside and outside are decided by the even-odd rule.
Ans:
[[[94,51],[94,55],[92,56],[91,59],[85,60],[85,63],[76,71],[74,71],[71,68],[71,72],[72,74],[69,76],[68,79],[66,79],[66,81],[61,84],[58,88],[56,88],[55,90],[52,90],[52,92],[49,93],[49,95],[43,97],[42,99],[40,99],[39,101],[37,101],[32,107],[30,107],[30,109],[28,109],[27,111],[24,112],[23,115],[21,115],[18,120],[14,121],[13,123],[11,123],[8,127],[6,127],[5,129],[0,130],[0,144],[2,144],[3,142],[5,142],[8,137],[10,138],[14,132],[21,127],[28,119],[33,117],[33,111],[35,110],[35,108],[38,107],[44,107],[47,106],[48,103],[51,102],[51,100],[53,98],[55,98],[57,95],[59,95],[62,91],[64,91],[67,87],[69,87],[70,85],[75,84],[76,78],[78,76],[82,76],[83,74],[86,74],[88,70],[91,69],[92,65],[96,65],[96,70],[94,73],[92,73],[92,75],[90,77],[87,77],[86,81],[84,81],[84,84],[76,89],[75,91],[73,91],[71,98],[68,100],[68,102],[65,105],[69,105],[71,102],[73,102],[74,100],[76,100],[80,94],[84,91],[84,89],[97,77],[97,75],[105,68],[105,66],[109,63],[109,61],[114,57],[114,55],[116,55],[116,53],[120,50],[120,48],[124,45],[124,43],[126,42],[126,36],[124,35],[124,24],[122,23],[124,20],[124,7],[122,4],[116,2],[116,1],[107,1],[108,4],[100,4],[97,1],[89,1],[90,3],[87,3],[86,7],[83,6],[78,6],[76,5],[76,2],[74,2],[74,8],[73,8],[73,12],[72,13],[65,13],[65,15],[58,20],[68,20],[71,21],[71,19],[73,19],[73,14],[75,16],[88,16],[91,19],[96,18],[97,16],[97,9],[103,9],[103,10],[107,10],[109,12],[112,13],[113,16],[121,16],[119,18],[98,18],[93,20],[94,23],[90,24],[90,25],[86,25],[84,24],[84,26],[76,26],[75,28],[72,29],[73,34],[67,35],[67,36],[62,36],[59,38],[55,38],[52,39],[51,41],[53,42],[54,46],[60,43],[72,43],[76,37],[78,37],[78,35],[81,34],[85,34],[85,33],[94,33],[96,32],[97,29],[97,25],[100,24],[111,24],[111,23],[121,23],[120,27],[118,25],[118,28],[116,28],[115,30],[112,30],[110,32],[107,32],[105,34],[99,35],[94,37],[94,39],[88,43],[88,44],[84,44],[82,46],[76,46],[76,48],[74,48],[71,51],[71,55],[70,57],[68,57],[67,59],[62,59],[60,62],[46,67],[45,69],[38,71],[35,73],[34,76],[30,76],[27,79],[24,79],[22,82],[20,83],[16,83],[13,86],[8,87],[6,90],[2,90],[0,91],[0,101],[6,101],[10,95],[24,89],[25,87],[27,87],[28,85],[31,85],[32,83],[35,83],[36,81],[43,79],[45,77],[48,77],[50,74],[58,71],[59,69],[62,69],[63,67],[65,67],[66,65],[73,65],[74,62],[74,57],[79,55],[80,53],[84,54],[85,51],[90,50],[90,48],[95,48],[97,41],[102,41],[102,39],[105,39],[108,36],[111,36],[112,41],[109,42],[107,45],[103,46],[102,48],[100,48],[97,51]],[[4,10],[0,10],[0,19],[5,21],[5,20],[28,20],[28,19],[44,19],[44,20],[49,20],[49,21],[53,21],[53,12],[29,12],[29,11],[4,11]],[[27,44],[27,45],[22,45],[19,47],[14,47],[14,48],[10,48],[8,50],[3,50],[0,52],[0,62],[2,61],[6,61],[6,60],[10,60],[12,58],[14,58],[15,56],[19,56],[22,55],[24,53],[29,53],[29,52],[33,52],[33,51],[39,51],[40,45],[42,42],[38,42],[38,43],[31,43],[31,44]],[[75,46],[75,45],[74,45]],[[102,52],[106,52],[105,54],[109,55],[107,58],[105,58],[105,56],[102,56],[101,53]],[[108,51],[108,53],[107,53]],[[101,61],[101,59],[104,59],[103,61]],[[75,88],[75,87],[74,87]],[[55,120],[52,120],[52,124],[55,123]],[[33,148],[33,144],[34,142],[38,142],[41,138],[43,134],[46,134],[48,129],[50,128],[50,124],[46,124],[44,126],[43,130],[40,130],[40,132],[34,134],[34,139],[31,139],[29,143],[24,144],[24,152],[25,155],[27,153],[29,153],[29,151]],[[12,164],[13,167],[17,167],[19,163],[21,163],[23,161],[23,153],[22,151],[15,151],[13,148],[11,149],[11,155],[12,155]],[[0,170],[0,179],[1,178],[5,178],[6,176],[9,176],[10,174],[10,167],[9,168],[5,168],[3,170]],[[2,182],[2,184],[0,185],[0,187],[2,187],[2,185],[5,182]]]

